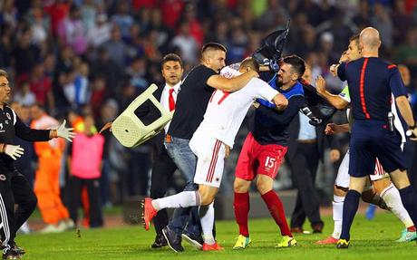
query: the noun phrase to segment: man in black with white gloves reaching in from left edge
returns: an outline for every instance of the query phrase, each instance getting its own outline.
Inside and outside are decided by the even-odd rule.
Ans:
[[[29,141],[47,141],[57,137],[71,141],[74,137],[73,129],[65,128],[65,121],[57,130],[30,129],[7,105],[11,95],[7,72],[0,70],[0,219],[3,225],[0,235],[3,259],[18,259],[24,254],[15,246],[15,233],[36,206],[34,191],[15,169],[14,160],[24,153],[20,146],[13,145],[15,136]],[[16,210],[15,203],[18,205]]]

